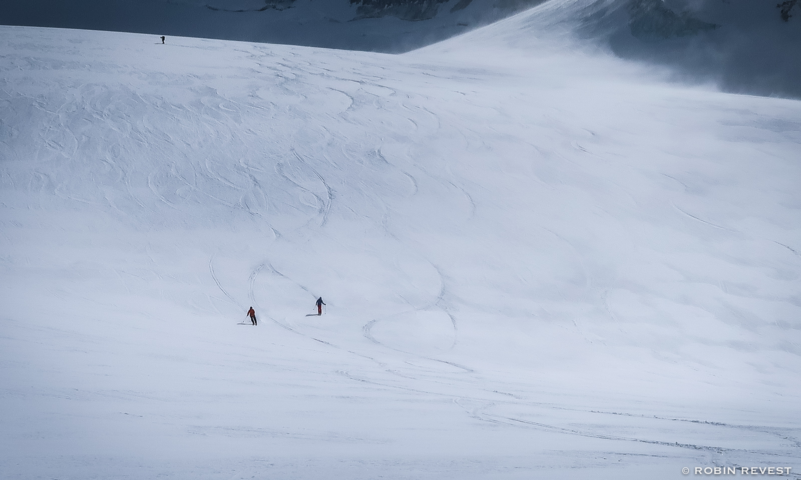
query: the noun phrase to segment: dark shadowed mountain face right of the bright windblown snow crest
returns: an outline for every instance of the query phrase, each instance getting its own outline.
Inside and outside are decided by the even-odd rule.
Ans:
[[[726,91],[801,98],[801,22],[776,2],[631,0],[626,14],[627,28],[605,32],[619,56]]]

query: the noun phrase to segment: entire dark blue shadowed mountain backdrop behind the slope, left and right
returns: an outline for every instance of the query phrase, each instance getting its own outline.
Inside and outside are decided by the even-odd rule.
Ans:
[[[550,24],[524,35],[557,27],[682,81],[801,98],[796,0],[31,0],[0,24],[401,53],[531,8]]]

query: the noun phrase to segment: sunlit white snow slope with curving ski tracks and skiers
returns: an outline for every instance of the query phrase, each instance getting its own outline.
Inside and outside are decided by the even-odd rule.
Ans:
[[[799,478],[801,103],[519,20],[0,28],[3,478]]]

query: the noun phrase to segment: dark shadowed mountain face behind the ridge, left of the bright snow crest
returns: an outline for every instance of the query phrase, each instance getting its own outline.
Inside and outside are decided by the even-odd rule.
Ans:
[[[33,0],[0,24],[116,30],[400,53],[543,0]]]

